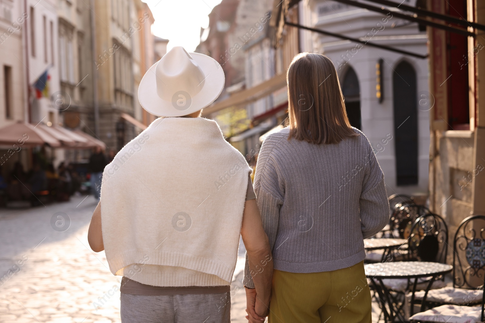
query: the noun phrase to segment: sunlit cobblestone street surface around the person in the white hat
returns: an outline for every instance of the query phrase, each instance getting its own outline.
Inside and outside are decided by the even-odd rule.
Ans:
[[[109,271],[104,251],[89,248],[87,231],[97,202],[84,198],[0,211],[1,323],[121,322],[120,277]],[[53,229],[63,215],[59,212],[70,218],[70,224],[66,217],[65,227],[57,229],[68,226],[65,231]],[[241,259],[231,293],[231,322],[237,323],[247,322]]]

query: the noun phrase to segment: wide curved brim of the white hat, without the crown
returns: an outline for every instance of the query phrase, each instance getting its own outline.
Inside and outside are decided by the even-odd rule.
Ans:
[[[157,81],[162,82],[162,80],[157,80],[155,75],[158,64],[156,62],[145,73],[138,87],[138,100],[146,111],[159,117],[180,117],[207,107],[221,94],[226,80],[221,65],[210,56],[200,53],[189,54],[206,75],[200,92],[191,97],[190,106],[180,110],[175,108],[172,101],[158,96]]]

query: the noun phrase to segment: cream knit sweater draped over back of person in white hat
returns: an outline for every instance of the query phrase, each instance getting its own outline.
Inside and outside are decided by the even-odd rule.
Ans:
[[[230,285],[250,172],[214,121],[155,120],[104,169],[111,272],[153,286]]]

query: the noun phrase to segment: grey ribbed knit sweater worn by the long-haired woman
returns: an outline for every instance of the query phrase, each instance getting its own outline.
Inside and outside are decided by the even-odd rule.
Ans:
[[[388,223],[384,175],[369,140],[354,130],[360,136],[338,144],[288,140],[289,128],[264,140],[254,188],[275,269],[355,265],[365,258],[363,239]],[[243,284],[254,288],[247,255]]]

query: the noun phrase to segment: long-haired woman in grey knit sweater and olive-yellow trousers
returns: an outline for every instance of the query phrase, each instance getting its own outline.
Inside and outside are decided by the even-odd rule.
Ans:
[[[383,172],[326,56],[295,56],[287,83],[289,127],[264,140],[254,181],[275,261],[268,320],[371,323],[363,239],[389,221]]]

